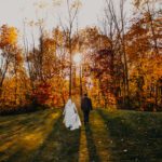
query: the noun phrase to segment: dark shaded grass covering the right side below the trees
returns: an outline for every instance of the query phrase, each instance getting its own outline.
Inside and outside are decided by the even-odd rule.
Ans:
[[[110,161],[162,161],[162,113],[98,110],[98,114],[107,130]]]

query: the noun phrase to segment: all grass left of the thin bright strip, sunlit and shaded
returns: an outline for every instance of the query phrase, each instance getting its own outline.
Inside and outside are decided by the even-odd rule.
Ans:
[[[78,161],[80,130],[63,125],[62,110],[0,118],[0,162]]]

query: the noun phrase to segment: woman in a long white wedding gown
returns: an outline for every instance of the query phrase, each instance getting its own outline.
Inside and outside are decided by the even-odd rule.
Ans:
[[[79,129],[81,126],[81,121],[76,108],[75,103],[71,99],[68,99],[65,109],[64,109],[64,123],[65,126],[72,130]]]

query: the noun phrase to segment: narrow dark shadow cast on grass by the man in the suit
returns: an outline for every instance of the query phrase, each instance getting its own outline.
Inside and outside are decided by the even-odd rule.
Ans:
[[[93,139],[93,132],[91,125],[85,125],[86,144],[89,151],[90,162],[99,162],[99,156],[97,154],[96,146]]]

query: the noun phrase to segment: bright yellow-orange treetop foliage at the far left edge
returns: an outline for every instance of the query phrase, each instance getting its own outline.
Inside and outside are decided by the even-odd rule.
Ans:
[[[17,29],[3,25],[0,28],[0,48],[15,45],[17,43]]]

